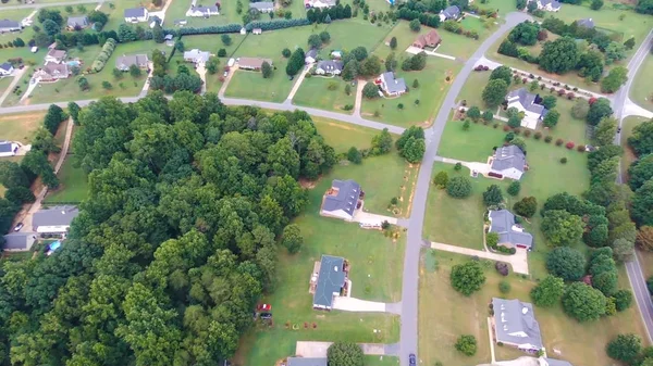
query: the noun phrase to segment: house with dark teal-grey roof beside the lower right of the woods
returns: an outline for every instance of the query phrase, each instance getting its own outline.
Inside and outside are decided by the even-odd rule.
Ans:
[[[340,296],[346,290],[347,267],[345,260],[340,256],[322,255],[319,268],[311,276],[313,291],[313,308],[330,311],[333,308],[333,298]]]

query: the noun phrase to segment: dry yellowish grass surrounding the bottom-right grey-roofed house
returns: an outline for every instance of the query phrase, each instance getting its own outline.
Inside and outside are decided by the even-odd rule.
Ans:
[[[423,256],[430,256],[428,251]],[[438,267],[429,272],[420,267],[419,283],[419,356],[420,365],[434,365],[440,361],[443,365],[477,365],[490,363],[490,339],[488,335],[488,303],[493,296],[504,299],[519,299],[529,302],[530,289],[533,281],[509,275],[501,277],[490,262],[483,261],[486,281],[483,288],[469,298],[454,291],[449,285],[449,273],[453,265],[469,261],[464,257],[445,252],[434,252]],[[498,282],[506,279],[512,290],[503,295],[498,291]],[[619,285],[628,287],[628,278],[623,268],[619,272]],[[433,306],[438,304],[438,311]],[[552,308],[534,308],[534,315],[540,324],[542,340],[546,350],[559,350],[559,355],[549,356],[560,358],[574,365],[615,365],[603,351],[605,344],[618,333],[632,332],[644,339],[644,329],[632,306],[616,316],[599,319],[596,321],[580,324],[563,313],[562,306]],[[460,335],[473,335],[478,341],[478,352],[472,357],[467,357],[454,348]],[[645,341],[644,341],[645,343]],[[515,350],[497,351],[497,361],[503,356],[514,357],[525,355]]]

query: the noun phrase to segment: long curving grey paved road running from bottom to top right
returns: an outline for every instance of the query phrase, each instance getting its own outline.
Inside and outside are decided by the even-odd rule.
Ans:
[[[429,193],[429,184],[433,171],[433,162],[440,146],[440,138],[444,130],[444,125],[448,119],[455,99],[465,85],[473,70],[475,63],[503,37],[510,28],[517,24],[530,18],[523,13],[510,13],[506,16],[506,23],[502,25],[494,34],[490,36],[473,55],[465,63],[463,70],[456,76],[444,103],[440,106],[440,112],[435,117],[433,126],[426,131],[427,153],[422,160],[417,177],[417,186],[412,199],[412,211],[408,224],[408,243],[406,245],[406,255],[404,256],[404,277],[402,285],[402,330],[399,340],[399,356],[402,366],[408,366],[408,355],[417,354],[417,312],[418,312],[418,282],[419,282],[419,253],[422,245],[422,227],[424,224],[424,214],[427,211],[427,195]],[[418,356],[419,358],[419,356]]]

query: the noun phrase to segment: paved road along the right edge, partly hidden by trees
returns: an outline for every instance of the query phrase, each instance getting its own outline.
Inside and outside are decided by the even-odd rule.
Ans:
[[[628,94],[632,86],[632,80],[637,77],[639,66],[642,64],[644,59],[649,55],[649,51],[653,47],[653,30],[649,33],[649,36],[644,39],[640,48],[637,50],[632,60],[628,63],[628,81],[619,91],[615,93],[613,101],[613,109],[615,110],[615,116],[619,121],[619,127],[621,127],[624,117],[627,116],[625,111],[626,104],[630,102]],[[625,113],[626,112],[626,113]],[[621,144],[621,134],[617,134],[615,137],[615,144]],[[621,172],[621,169],[619,169]],[[623,182],[623,177],[619,174],[617,176],[617,182]],[[649,342],[653,343],[653,303],[651,302],[651,295],[644,280],[642,267],[640,266],[637,255],[634,261],[626,263],[626,273],[628,274],[628,280],[632,287],[637,306],[639,307],[640,315],[646,328],[646,336],[649,336]]]

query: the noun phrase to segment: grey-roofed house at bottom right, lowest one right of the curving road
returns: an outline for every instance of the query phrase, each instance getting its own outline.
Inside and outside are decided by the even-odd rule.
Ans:
[[[538,352],[542,349],[542,335],[532,304],[517,299],[492,298],[492,327],[497,343],[502,342],[526,352]]]

